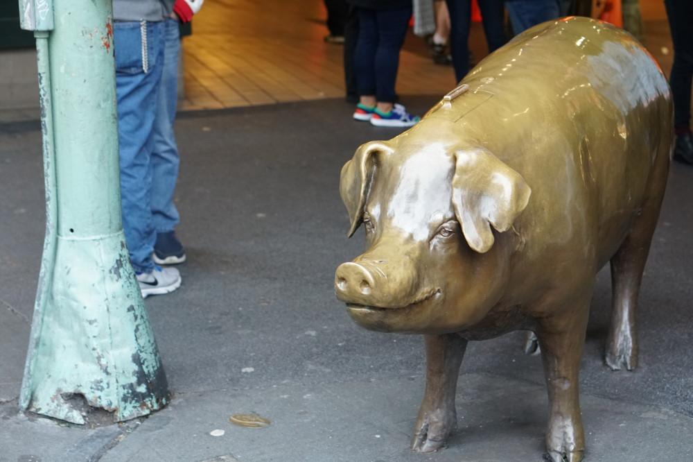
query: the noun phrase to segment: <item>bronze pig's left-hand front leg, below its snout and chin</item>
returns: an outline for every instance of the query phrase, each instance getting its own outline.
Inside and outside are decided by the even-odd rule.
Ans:
[[[426,393],[416,418],[412,450],[433,452],[443,447],[457,427],[455,392],[467,341],[457,334],[425,337]]]

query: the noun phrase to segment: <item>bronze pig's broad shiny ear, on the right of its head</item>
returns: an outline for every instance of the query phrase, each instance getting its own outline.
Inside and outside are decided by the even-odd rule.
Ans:
[[[478,253],[493,246],[493,231],[507,231],[527,207],[529,189],[519,173],[477,149],[455,153],[453,207],[464,239]]]

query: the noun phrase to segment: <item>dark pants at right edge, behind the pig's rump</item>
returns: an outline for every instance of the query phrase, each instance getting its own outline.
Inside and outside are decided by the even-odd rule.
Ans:
[[[672,95],[676,132],[690,130],[691,80],[693,76],[693,3],[691,0],[665,0],[669,28],[674,42]]]

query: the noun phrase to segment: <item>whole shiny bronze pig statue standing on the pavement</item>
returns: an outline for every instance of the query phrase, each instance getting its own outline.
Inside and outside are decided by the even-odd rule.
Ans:
[[[612,368],[635,368],[642,271],[665,192],[672,100],[631,35],[581,17],[547,22],[484,59],[423,120],[342,168],[351,236],[337,298],[381,332],[425,334],[412,448],[455,429],[469,340],[536,333],[552,461],[580,461],[578,373],[590,298],[611,262]]]

